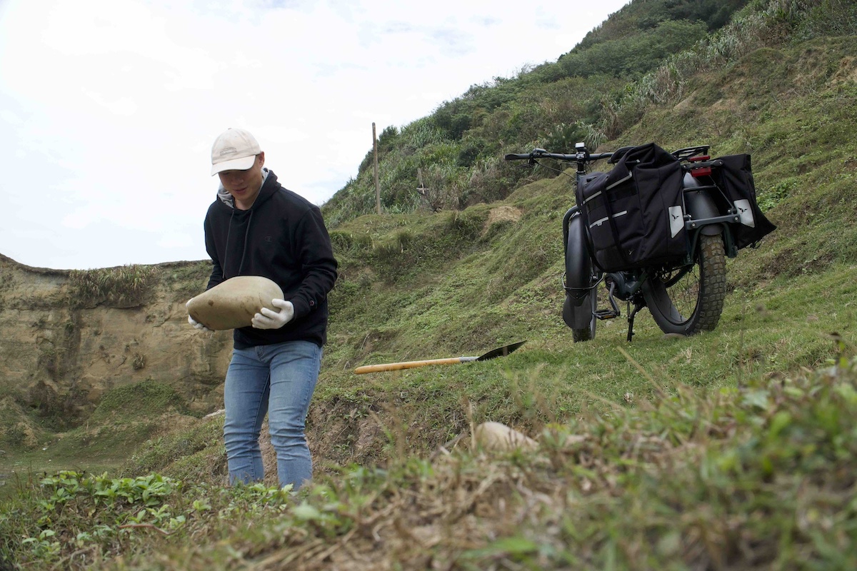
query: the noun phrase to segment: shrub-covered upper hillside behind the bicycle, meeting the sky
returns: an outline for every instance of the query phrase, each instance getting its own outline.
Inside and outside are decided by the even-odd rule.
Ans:
[[[683,98],[700,70],[763,47],[854,33],[857,6],[845,0],[634,0],[556,62],[471,86],[430,116],[385,128],[381,205],[401,213],[504,199],[522,179],[501,160],[505,152],[597,146],[620,138],[652,104]],[[372,158],[369,149],[357,176],[327,202],[328,223],[375,211]],[[426,190],[417,193],[421,174]]]

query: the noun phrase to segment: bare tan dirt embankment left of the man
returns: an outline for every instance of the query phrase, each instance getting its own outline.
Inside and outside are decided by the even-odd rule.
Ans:
[[[105,391],[153,378],[190,410],[222,400],[231,332],[201,334],[184,303],[205,286],[204,265],[154,266],[138,300],[81,299],[72,271],[21,265],[0,255],[0,400],[37,409],[64,427],[81,423]]]

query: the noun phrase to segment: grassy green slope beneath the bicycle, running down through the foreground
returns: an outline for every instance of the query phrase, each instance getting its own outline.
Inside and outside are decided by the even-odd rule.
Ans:
[[[355,183],[328,210],[341,277],[309,419],[314,484],[220,487],[222,419],[201,419],[114,473],[21,483],[0,511],[0,568],[857,567],[857,20],[836,2],[740,18],[752,41],[722,48],[739,37],[727,25],[599,111],[612,136],[590,124],[602,149],[752,153],[778,229],[728,262],[716,330],[665,338],[642,312],[632,343],[622,319],[572,342],[568,176],[496,162],[470,173],[489,202],[382,216],[355,216]],[[620,80],[566,81],[594,96]],[[387,132],[387,152],[457,156],[429,119]],[[524,340],[500,360],[351,372]],[[485,420],[539,447],[474,447]]]

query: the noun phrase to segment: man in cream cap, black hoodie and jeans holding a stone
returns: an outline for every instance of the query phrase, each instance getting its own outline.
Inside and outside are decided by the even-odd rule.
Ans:
[[[304,421],[327,341],[327,293],[337,277],[330,236],[318,207],[282,187],[265,153],[243,129],[212,147],[217,199],[205,221],[213,262],[207,288],[234,276],[263,276],[283,289],[251,327],[233,332],[226,372],[224,441],[230,483],[264,476],[259,433],[268,414],[279,484],[297,489],[312,476]],[[205,329],[188,317],[190,324]]]

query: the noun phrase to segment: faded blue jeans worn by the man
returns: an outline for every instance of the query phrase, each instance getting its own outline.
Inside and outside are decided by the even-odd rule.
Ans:
[[[321,368],[321,347],[292,341],[235,349],[226,372],[223,427],[230,484],[264,478],[259,433],[265,413],[277,452],[279,485],[310,479],[313,461],[303,433]]]

